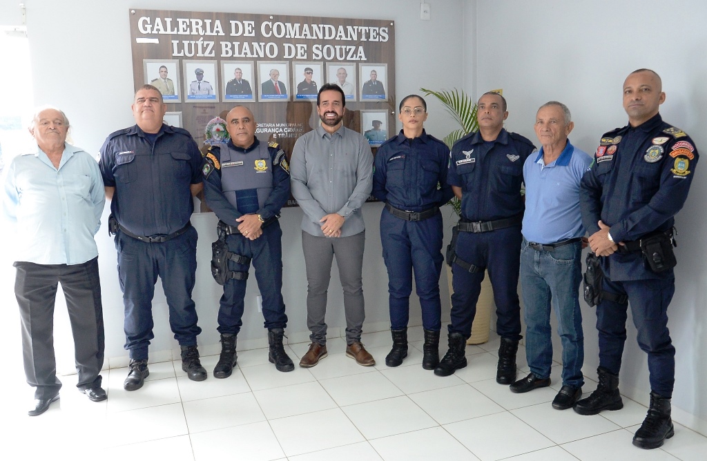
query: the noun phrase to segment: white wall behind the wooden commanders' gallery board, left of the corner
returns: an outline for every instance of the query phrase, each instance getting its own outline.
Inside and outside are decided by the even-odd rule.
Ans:
[[[28,35],[33,66],[33,90],[37,105],[52,104],[61,107],[71,119],[72,136],[77,146],[91,153],[98,153],[105,136],[116,129],[134,124],[132,103],[132,56],[130,50],[129,8],[134,1],[110,2],[74,0],[55,2],[27,0]],[[306,6],[303,6],[306,5]],[[199,3],[199,11],[226,11],[243,13],[270,13],[311,15],[344,18],[375,18],[395,21],[397,59],[397,99],[417,93],[421,86],[428,88],[461,87],[461,67],[464,44],[457,40],[455,31],[462,29],[464,2],[449,1],[445,6],[433,8],[432,20],[419,19],[419,2],[395,1],[308,1],[261,0],[243,5],[227,6],[223,1],[206,0]],[[163,9],[163,1],[141,1],[139,8]],[[192,11],[194,2],[176,0],[168,8],[175,11]],[[440,53],[438,44],[445,43]],[[440,69],[444,69],[440,72]],[[449,131],[449,117],[440,107],[431,104],[428,132],[439,137]],[[378,220],[381,204],[366,204],[363,212],[367,223],[366,254],[363,290],[366,296],[367,318],[364,331],[387,329],[387,274],[382,264]],[[448,214],[445,214],[448,216]],[[306,279],[300,238],[301,211],[284,209],[281,226],[284,230],[284,298],[289,317],[287,334],[290,340],[308,338],[306,328]],[[107,209],[103,219],[107,221]],[[216,285],[209,272],[211,241],[215,240],[214,214],[194,215],[192,223],[199,231],[197,260],[197,286],[194,300],[199,313],[199,326],[204,330],[198,338],[202,354],[220,350],[216,332],[216,313],[221,287]],[[450,228],[451,224],[447,226]],[[117,283],[115,247],[105,226],[97,235],[100,251],[100,275],[103,288],[103,307],[106,327],[106,357],[111,366],[127,363],[127,353],[122,349],[123,307],[122,293]],[[246,294],[246,312],[239,346],[265,346],[267,339],[262,327],[262,315],[256,311],[257,285],[251,277]],[[442,281],[443,297],[448,300],[445,279]],[[7,292],[8,295],[10,292]],[[57,356],[65,370],[73,368],[73,351],[63,300],[58,301]],[[330,334],[339,335],[344,327],[343,300],[336,269],[332,273],[329,290]],[[160,284],[156,288],[153,313],[155,335],[150,356],[152,360],[170,357],[176,342],[169,330],[167,307]],[[419,325],[419,303],[413,301],[411,317]],[[63,325],[63,329],[62,326]],[[65,341],[64,341],[65,340]],[[380,358],[382,359],[382,357]]]

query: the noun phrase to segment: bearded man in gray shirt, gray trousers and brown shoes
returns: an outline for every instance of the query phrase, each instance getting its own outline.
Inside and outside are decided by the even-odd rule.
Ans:
[[[373,154],[362,134],[343,126],[346,98],[327,83],[317,95],[322,124],[300,136],[290,161],[291,191],[304,211],[302,249],[307,270],[307,327],[312,344],[300,360],[309,368],[327,356],[327,290],[337,255],[344,290],[346,356],[375,365],[361,344],[363,320],[363,244],[366,226],[361,206],[373,187]]]

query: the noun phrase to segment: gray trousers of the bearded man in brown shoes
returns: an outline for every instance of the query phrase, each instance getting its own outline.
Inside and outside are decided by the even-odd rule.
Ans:
[[[361,341],[366,310],[363,303],[363,247],[366,231],[350,237],[315,237],[302,231],[302,250],[307,269],[307,327],[312,342],[326,344],[327,291],[332,278],[332,259],[337,255],[339,281],[344,290],[346,344]]]

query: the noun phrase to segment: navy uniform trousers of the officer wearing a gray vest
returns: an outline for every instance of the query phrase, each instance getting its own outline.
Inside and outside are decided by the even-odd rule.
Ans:
[[[287,326],[285,303],[282,299],[282,230],[280,223],[274,221],[262,229],[263,233],[255,240],[248,240],[240,234],[226,237],[228,251],[236,255],[250,257],[255,267],[255,279],[262,296],[264,327],[284,328]],[[248,272],[250,264],[228,262],[228,270]],[[229,279],[223,286],[218,308],[218,332],[238,334],[243,325],[245,286],[247,280]]]

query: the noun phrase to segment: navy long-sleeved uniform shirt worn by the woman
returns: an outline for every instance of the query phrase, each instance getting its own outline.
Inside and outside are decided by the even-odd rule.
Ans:
[[[407,139],[400,130],[375,153],[373,196],[406,211],[442,206],[454,196],[447,184],[448,162],[449,148],[442,141],[424,130]]]

